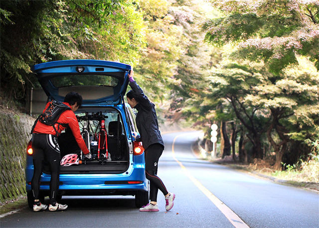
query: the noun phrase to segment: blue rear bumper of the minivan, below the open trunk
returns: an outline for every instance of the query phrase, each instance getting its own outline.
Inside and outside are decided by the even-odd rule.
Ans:
[[[25,173],[26,191],[30,192],[33,165],[27,166]],[[40,192],[49,191],[50,179],[49,174],[41,175]],[[136,191],[148,191],[143,163],[133,163],[120,174],[60,174],[59,192],[62,195],[135,195]]]

